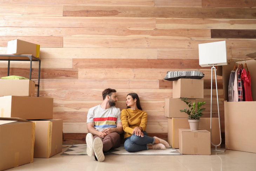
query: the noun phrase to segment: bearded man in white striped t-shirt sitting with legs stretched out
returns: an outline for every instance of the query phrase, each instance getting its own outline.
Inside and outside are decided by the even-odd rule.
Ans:
[[[87,155],[94,155],[99,162],[105,159],[103,151],[120,146],[119,134],[123,132],[121,111],[114,107],[117,102],[116,90],[105,89],[102,97],[103,102],[88,111],[89,133],[86,135]]]

